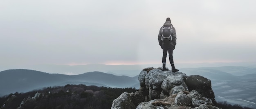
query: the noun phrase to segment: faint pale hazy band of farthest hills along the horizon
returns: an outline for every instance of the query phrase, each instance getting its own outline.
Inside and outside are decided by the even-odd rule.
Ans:
[[[221,67],[221,66],[244,66],[248,68],[256,68],[256,62],[232,62],[232,63],[175,63],[176,68],[200,68],[200,67]],[[85,72],[104,72],[114,75],[126,75],[134,77],[139,72],[147,67],[162,67],[162,63],[159,64],[146,64],[146,65],[103,65],[103,64],[88,64],[88,65],[0,65],[0,71],[9,69],[29,69],[41,72],[47,72],[50,74],[67,74],[77,75]],[[171,68],[170,64],[166,64],[166,67]],[[237,71],[236,71],[237,72]]]

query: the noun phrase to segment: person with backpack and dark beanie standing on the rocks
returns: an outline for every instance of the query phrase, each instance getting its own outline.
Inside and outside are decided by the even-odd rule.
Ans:
[[[163,49],[163,71],[168,70],[166,65],[166,56],[167,52],[169,53],[169,60],[172,66],[172,72],[178,72],[179,70],[175,69],[174,62],[173,62],[173,50],[176,46],[176,31],[173,27],[173,24],[171,24],[171,19],[168,17],[166,18],[166,21],[164,25],[160,28],[159,34],[158,34],[158,41],[159,45]]]

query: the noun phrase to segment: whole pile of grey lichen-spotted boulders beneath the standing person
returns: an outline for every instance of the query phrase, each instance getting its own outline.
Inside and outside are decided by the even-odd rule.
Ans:
[[[139,91],[121,94],[111,109],[219,109],[211,81],[203,76],[151,67],[143,69],[138,79]]]

